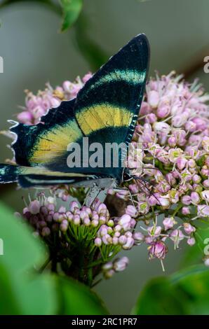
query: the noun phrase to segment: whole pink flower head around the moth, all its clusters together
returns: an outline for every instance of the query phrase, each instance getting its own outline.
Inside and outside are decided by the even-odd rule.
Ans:
[[[90,77],[88,73],[75,83],[65,81],[55,90],[47,85],[36,96],[27,92],[26,106],[18,119],[38,123],[49,108],[75,97]],[[47,239],[53,232],[60,232],[65,244],[70,244],[71,238],[91,239],[91,247],[97,248],[97,257],[103,259],[142,243],[147,244],[150,259],[160,260],[168,253],[168,240],[174,248],[182,240],[193,246],[198,218],[209,218],[208,100],[197,81],[190,85],[174,72],[149,80],[133,135],[133,145],[140,143],[143,148],[128,159],[139,179],[124,183],[124,190],[109,191],[129,202],[123,216],[109,218],[104,204],[90,209],[72,202],[69,209],[55,210],[55,199],[42,196],[42,203],[30,202],[24,217]],[[134,167],[135,155],[142,157],[142,172]],[[76,190],[62,186],[53,189],[53,195],[66,202],[69,195],[75,197]],[[137,223],[141,225],[135,230]],[[125,258],[109,260],[102,265],[102,272],[110,277],[127,265]]]

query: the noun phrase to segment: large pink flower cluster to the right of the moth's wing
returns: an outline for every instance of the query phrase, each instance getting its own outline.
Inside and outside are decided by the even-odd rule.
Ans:
[[[209,218],[208,100],[196,81],[189,85],[173,72],[147,83],[133,136],[143,146],[143,171],[133,169],[140,179],[126,187],[132,216],[147,225],[149,258],[165,257],[166,239],[175,248],[183,239],[194,245],[198,218]],[[117,196],[127,199],[128,191]]]

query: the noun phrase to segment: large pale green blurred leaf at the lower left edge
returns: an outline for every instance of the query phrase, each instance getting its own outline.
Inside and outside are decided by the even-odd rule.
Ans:
[[[0,314],[54,314],[58,309],[55,281],[50,274],[36,274],[46,259],[46,249],[26,224],[0,204]]]

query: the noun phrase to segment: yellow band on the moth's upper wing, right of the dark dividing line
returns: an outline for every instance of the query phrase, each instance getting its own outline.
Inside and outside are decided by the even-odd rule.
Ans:
[[[119,106],[97,104],[81,109],[76,118],[84,134],[88,135],[106,127],[128,127],[133,113]]]

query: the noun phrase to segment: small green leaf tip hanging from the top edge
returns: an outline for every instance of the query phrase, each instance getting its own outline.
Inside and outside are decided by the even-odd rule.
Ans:
[[[61,31],[72,27],[79,17],[83,6],[83,0],[60,0],[62,6],[63,20]]]

